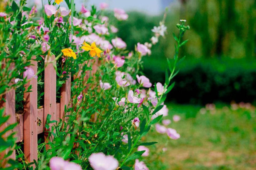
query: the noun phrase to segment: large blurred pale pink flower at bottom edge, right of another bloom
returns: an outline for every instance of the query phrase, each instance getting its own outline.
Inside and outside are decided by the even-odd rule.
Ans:
[[[91,154],[89,162],[94,170],[115,170],[118,167],[118,161],[113,156],[102,152]]]

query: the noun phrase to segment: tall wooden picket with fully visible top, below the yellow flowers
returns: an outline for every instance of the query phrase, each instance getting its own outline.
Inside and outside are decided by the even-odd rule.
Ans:
[[[56,65],[55,55],[46,55],[45,70],[44,70],[44,123],[46,123],[46,117],[51,115],[51,120],[56,120]],[[50,124],[50,128],[45,131],[51,130],[53,124]],[[44,133],[44,139],[48,142],[48,133]],[[46,149],[49,149],[49,145],[46,145]]]

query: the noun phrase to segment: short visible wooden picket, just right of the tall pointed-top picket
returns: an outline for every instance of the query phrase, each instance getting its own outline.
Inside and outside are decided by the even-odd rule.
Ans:
[[[69,106],[69,101],[71,99],[71,75],[67,78],[65,84],[63,84],[60,89],[60,119],[63,118],[65,114],[65,106]]]

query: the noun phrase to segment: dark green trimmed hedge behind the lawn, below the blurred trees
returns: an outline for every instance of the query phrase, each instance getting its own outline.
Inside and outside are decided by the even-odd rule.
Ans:
[[[145,76],[151,82],[164,82],[166,66],[165,60],[149,57],[144,60]],[[168,100],[206,104],[256,99],[256,60],[185,59],[179,69]]]

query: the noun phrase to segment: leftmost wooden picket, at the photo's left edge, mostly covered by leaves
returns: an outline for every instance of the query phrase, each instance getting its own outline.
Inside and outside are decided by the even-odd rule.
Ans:
[[[2,65],[2,68],[4,67],[5,65],[3,64]],[[12,70],[14,68],[14,63],[11,63],[10,64],[10,67],[9,69]],[[10,85],[14,84],[14,79],[12,79],[12,81],[10,82]],[[4,97],[6,102],[0,104],[1,107],[5,107],[4,109],[4,115],[10,115],[10,118],[8,119],[8,121],[6,123],[4,123],[2,126],[0,126],[0,131],[4,130],[8,125],[11,125],[11,124],[14,124],[16,123],[16,120],[15,120],[15,90],[14,89],[11,89],[9,92],[7,92]],[[13,132],[13,129],[12,131],[8,131],[4,134],[4,138],[7,137],[8,135],[10,135],[11,133]],[[5,154],[7,154],[10,150],[12,150],[13,148],[9,148],[9,149],[6,149],[4,150],[3,152],[1,152],[0,154],[0,158],[2,159],[3,156]],[[15,160],[16,159],[16,154],[15,154],[15,150],[12,151],[12,154],[10,155],[11,159]],[[7,161],[7,160],[6,160]],[[4,161],[4,164],[2,164],[1,166],[2,167],[5,167],[5,166],[9,166],[7,164],[7,162]]]

